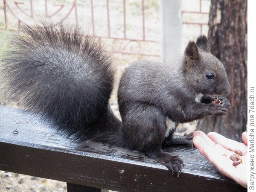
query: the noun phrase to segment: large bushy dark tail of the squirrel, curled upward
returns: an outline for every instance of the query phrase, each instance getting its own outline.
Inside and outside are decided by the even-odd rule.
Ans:
[[[23,26],[2,63],[9,94],[64,134],[76,134],[108,113],[111,59],[77,28]]]

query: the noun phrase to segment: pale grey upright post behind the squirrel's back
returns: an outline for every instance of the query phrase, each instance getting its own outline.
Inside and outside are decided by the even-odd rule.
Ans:
[[[181,1],[161,0],[160,14],[162,62],[170,65],[179,58],[181,53]]]

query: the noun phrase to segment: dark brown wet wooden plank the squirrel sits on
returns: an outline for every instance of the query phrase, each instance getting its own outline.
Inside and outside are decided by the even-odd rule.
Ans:
[[[246,191],[221,175],[197,149],[165,151],[184,160],[179,178],[142,152],[91,141],[75,143],[32,113],[0,106],[0,170],[116,191]]]

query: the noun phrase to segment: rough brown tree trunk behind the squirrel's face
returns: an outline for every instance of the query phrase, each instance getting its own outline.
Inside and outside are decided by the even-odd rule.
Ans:
[[[241,141],[247,125],[247,0],[211,0],[208,38],[230,78],[231,108],[227,116],[204,117],[197,129]]]

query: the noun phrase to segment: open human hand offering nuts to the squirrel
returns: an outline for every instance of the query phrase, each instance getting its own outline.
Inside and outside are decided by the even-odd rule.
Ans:
[[[242,140],[244,143],[239,143],[215,132],[206,135],[202,131],[195,131],[193,134],[193,143],[198,151],[223,175],[247,188],[247,132],[242,134]],[[235,150],[242,152],[242,163],[237,166],[233,166],[233,160],[230,160]]]

